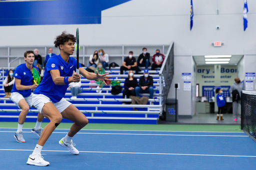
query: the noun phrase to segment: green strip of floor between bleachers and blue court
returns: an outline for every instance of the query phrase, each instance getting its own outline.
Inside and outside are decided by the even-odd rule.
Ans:
[[[42,123],[44,128],[48,123]],[[57,129],[69,129],[72,123],[61,123]],[[23,128],[33,128],[35,123],[25,122]],[[0,128],[17,128],[17,122],[0,122]],[[82,129],[132,130],[132,131],[183,131],[183,132],[243,132],[238,125],[141,125],[141,124],[93,124]]]

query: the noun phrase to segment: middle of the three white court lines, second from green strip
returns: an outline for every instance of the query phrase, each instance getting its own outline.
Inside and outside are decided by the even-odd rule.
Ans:
[[[7,133],[15,133],[16,131],[0,131]],[[31,132],[23,132],[31,133]],[[66,134],[66,132],[52,132],[53,134]],[[247,135],[174,135],[174,134],[116,134],[116,133],[83,133],[78,132],[77,134],[92,134],[92,135],[145,135],[145,136],[196,136],[196,137],[249,137]]]

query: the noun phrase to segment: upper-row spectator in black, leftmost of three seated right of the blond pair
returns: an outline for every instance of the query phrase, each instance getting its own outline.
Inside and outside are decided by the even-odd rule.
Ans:
[[[122,66],[120,67],[120,74],[123,74],[123,70],[134,70],[135,74],[138,74],[138,67],[136,58],[132,56],[133,52],[129,52],[129,56],[126,57],[122,63]]]

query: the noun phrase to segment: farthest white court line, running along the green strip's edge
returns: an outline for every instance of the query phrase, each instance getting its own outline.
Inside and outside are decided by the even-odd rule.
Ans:
[[[17,129],[17,128],[0,128],[0,129]],[[32,128],[22,128],[32,129]],[[70,129],[55,129],[55,130],[70,130]],[[99,129],[81,129],[80,131],[131,131],[131,132],[188,132],[188,133],[244,133],[244,132],[196,132],[196,131],[141,131],[141,130],[99,130]]]

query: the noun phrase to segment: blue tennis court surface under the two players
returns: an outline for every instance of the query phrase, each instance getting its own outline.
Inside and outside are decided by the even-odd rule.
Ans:
[[[38,137],[23,129],[0,128],[0,170],[253,170],[256,144],[244,133],[81,130],[73,138],[79,155],[58,141],[68,130],[55,130],[41,154],[48,167],[26,165]]]

